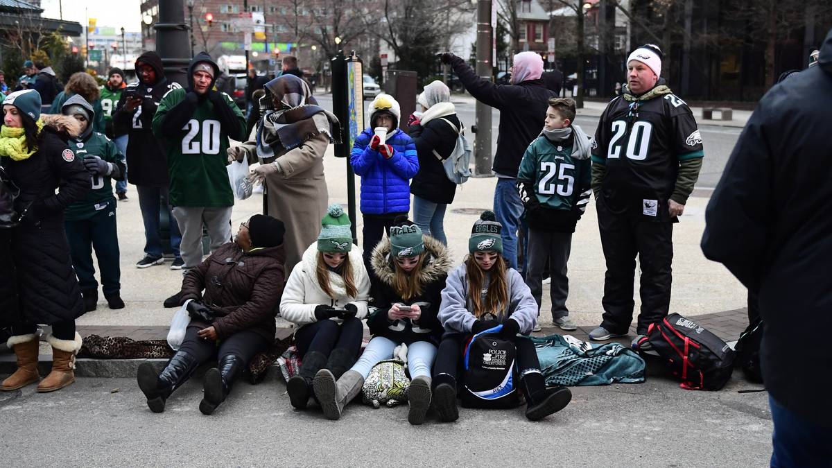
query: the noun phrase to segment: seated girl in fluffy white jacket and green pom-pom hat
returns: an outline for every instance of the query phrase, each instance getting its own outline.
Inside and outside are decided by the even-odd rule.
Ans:
[[[330,205],[321,221],[318,241],[295,266],[280,315],[299,326],[295,346],[302,360],[300,371],[286,383],[292,406],[304,410],[312,396],[312,379],[328,369],[335,379],[355,362],[361,349],[367,316],[369,277],[354,249],[349,217],[339,205]]]

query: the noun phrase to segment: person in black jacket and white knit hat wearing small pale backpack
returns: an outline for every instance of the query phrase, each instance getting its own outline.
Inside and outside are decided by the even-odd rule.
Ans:
[[[411,115],[408,122],[408,134],[416,143],[418,153],[418,173],[410,181],[414,222],[422,232],[447,246],[445,210],[453,202],[457,184],[448,179],[443,161],[457,145],[462,122],[451,102],[451,90],[443,82],[425,86],[418,96],[418,104],[422,112]]]

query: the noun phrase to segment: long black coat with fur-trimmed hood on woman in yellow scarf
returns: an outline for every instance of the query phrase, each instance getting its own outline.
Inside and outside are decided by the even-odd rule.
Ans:
[[[78,134],[78,122],[49,114],[41,120],[45,125],[37,152],[22,161],[0,157],[0,165],[21,191],[15,209],[24,216],[12,229],[11,249],[21,320],[51,325],[84,313],[63,212],[87,194],[92,182],[81,159],[67,147],[67,139]]]

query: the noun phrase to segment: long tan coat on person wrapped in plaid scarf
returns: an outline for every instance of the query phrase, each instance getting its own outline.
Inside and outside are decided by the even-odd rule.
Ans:
[[[329,192],[324,179],[324,152],[329,137],[311,137],[288,152],[276,154],[280,172],[265,178],[265,213],[286,227],[286,275],[303,257],[306,247],[318,239],[320,220],[326,214]],[[255,142],[243,143],[249,162],[258,162]]]

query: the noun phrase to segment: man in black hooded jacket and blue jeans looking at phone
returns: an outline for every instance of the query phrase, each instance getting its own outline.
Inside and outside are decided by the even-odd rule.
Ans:
[[[151,130],[153,115],[156,114],[161,98],[166,92],[181,86],[167,81],[161,57],[156,52],[141,54],[136,59],[136,72],[139,81],[131,83],[121,92],[112,117],[116,127],[130,129],[125,155],[127,167],[130,167],[127,181],[136,186],[145,226],[145,256],[136,263],[136,267],[146,268],[165,262],[159,234],[159,210],[164,202],[167,205],[171,249],[175,257],[171,270],[181,270],[185,265],[179,253],[182,235],[168,200],[167,154]]]

